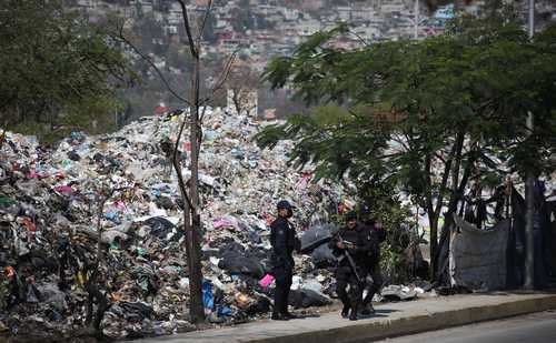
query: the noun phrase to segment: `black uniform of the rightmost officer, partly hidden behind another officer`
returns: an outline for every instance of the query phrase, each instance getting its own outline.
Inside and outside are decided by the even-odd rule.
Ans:
[[[380,273],[380,243],[386,240],[386,230],[377,229],[375,224],[368,225],[368,235],[370,240],[370,250],[366,260],[366,271],[373,279],[373,283],[367,284],[368,293],[363,300],[364,306],[368,306],[373,301],[373,296],[383,286],[383,275]]]

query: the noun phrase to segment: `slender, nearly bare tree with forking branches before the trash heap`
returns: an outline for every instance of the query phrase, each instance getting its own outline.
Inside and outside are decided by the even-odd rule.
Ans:
[[[189,56],[185,57],[183,63],[191,61],[191,74],[187,79],[190,81],[190,92],[183,97],[176,92],[163,73],[156,67],[153,61],[140,51],[128,38],[123,31],[123,22],[117,20],[116,30],[112,32],[112,38],[129,46],[138,56],[142,58],[158,74],[160,80],[166,85],[167,90],[173,98],[179,100],[181,104],[189,107],[188,111],[182,114],[181,122],[179,123],[179,132],[175,142],[161,142],[165,147],[168,158],[171,161],[173,170],[178,176],[178,189],[183,203],[183,231],[185,231],[185,248],[188,258],[187,266],[189,271],[189,289],[190,289],[190,306],[189,314],[191,322],[199,323],[205,320],[205,307],[202,302],[202,264],[201,264],[201,206],[199,196],[199,154],[202,143],[202,121],[207,104],[214,99],[215,94],[222,89],[222,85],[229,74],[230,68],[234,63],[236,53],[234,53],[226,63],[222,73],[214,82],[211,88],[205,90],[201,84],[201,40],[205,32],[208,17],[212,10],[212,1],[209,0],[203,14],[199,18],[199,22],[193,27],[190,20],[187,4],[185,0],[176,0],[181,8],[181,17],[183,29],[187,36],[187,49]],[[113,18],[116,19],[116,18]],[[201,93],[202,92],[202,93]],[[191,176],[189,180],[183,178],[183,162],[180,158],[179,147],[181,147],[181,139],[186,127],[189,129],[189,143],[191,145],[191,153],[186,167],[189,167]],[[171,145],[171,148],[168,148]]]

